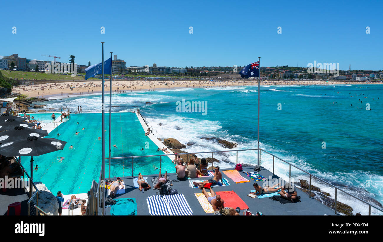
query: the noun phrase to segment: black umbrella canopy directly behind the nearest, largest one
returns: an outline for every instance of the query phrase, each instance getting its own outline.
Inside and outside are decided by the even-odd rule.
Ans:
[[[44,137],[48,135],[48,131],[43,129],[27,129],[22,126],[16,126],[15,129],[0,132],[0,144],[4,144],[18,139],[26,139],[27,137]]]

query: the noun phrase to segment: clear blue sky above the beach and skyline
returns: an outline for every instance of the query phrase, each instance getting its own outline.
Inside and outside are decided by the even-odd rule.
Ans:
[[[382,7],[354,0],[5,1],[0,56],[52,60],[41,56],[47,54],[68,62],[74,55],[77,64],[96,64],[105,42],[105,57],[112,51],[127,66],[247,65],[260,56],[261,66],[317,61],[382,70]]]

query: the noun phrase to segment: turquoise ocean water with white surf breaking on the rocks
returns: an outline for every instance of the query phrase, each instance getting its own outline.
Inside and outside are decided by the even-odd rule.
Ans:
[[[260,147],[355,196],[374,204],[383,203],[382,93],[382,85],[262,86]],[[184,149],[188,152],[224,150],[213,141],[201,139],[211,136],[236,142],[238,149],[250,149],[257,147],[257,98],[254,86],[167,89],[115,94],[116,107],[112,110],[140,108],[159,137],[173,137],[184,144],[193,142]],[[44,102],[47,108],[82,105],[83,110],[99,111],[101,106],[100,94],[51,99]],[[207,102],[206,115],[178,112],[176,102],[183,99]],[[366,110],[366,104],[371,110]],[[92,134],[92,139],[99,135]],[[271,170],[272,157],[261,156],[262,165]],[[257,163],[255,152],[240,152],[238,157],[242,163]],[[220,164],[224,168],[233,167],[236,162],[235,152],[214,154],[214,158],[224,160]],[[80,169],[75,164],[72,168]],[[288,166],[277,160],[275,172],[288,178]],[[308,180],[297,170],[292,169],[291,173],[295,180]],[[334,197],[333,188],[315,180],[313,183]],[[341,193],[338,198],[348,199]],[[362,210],[358,202],[352,206],[354,213]]]

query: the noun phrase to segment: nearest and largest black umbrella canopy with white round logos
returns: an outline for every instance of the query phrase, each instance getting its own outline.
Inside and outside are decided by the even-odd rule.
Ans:
[[[0,145],[0,154],[4,156],[34,156],[43,155],[64,149],[67,142],[54,138],[38,138],[31,136]]]

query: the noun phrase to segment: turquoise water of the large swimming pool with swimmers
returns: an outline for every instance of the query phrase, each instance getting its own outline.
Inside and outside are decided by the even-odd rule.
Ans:
[[[52,115],[52,114],[50,114]],[[79,124],[77,124],[79,122]],[[134,113],[112,113],[111,157],[156,155],[157,146],[145,136],[139,120]],[[82,128],[85,128],[82,130]],[[105,157],[108,157],[109,146],[109,114],[105,114]],[[75,132],[80,134],[75,135]],[[101,113],[73,114],[67,122],[49,132],[46,137],[66,141],[63,150],[52,152],[39,157],[33,157],[34,166],[38,170],[33,172],[34,181],[44,183],[53,194],[61,191],[64,194],[86,193],[92,180],[98,182],[101,169],[102,143]],[[60,135],[57,136],[57,133]],[[113,147],[116,145],[117,148]],[[73,149],[69,149],[73,146]],[[144,150],[140,150],[141,148]],[[60,158],[64,160],[60,162]],[[30,157],[21,157],[21,163],[27,170],[30,167]],[[160,168],[159,157],[134,159],[134,175],[155,174]],[[169,157],[162,157],[162,170],[173,170]],[[111,161],[111,177],[132,175],[132,160],[119,159]],[[108,177],[108,160],[105,161],[105,174]]]

